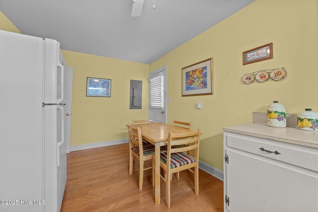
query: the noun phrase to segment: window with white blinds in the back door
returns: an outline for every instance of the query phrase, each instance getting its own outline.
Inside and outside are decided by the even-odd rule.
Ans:
[[[150,108],[163,108],[163,76],[149,80],[150,86]]]

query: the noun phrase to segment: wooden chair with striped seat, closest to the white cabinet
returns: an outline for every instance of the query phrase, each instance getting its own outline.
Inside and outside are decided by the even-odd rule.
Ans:
[[[169,176],[182,170],[194,167],[194,191],[199,195],[199,143],[200,143],[200,129],[194,132],[186,133],[171,133],[168,135],[167,151],[160,153],[160,167],[165,172],[165,177],[160,177],[166,184],[166,205],[170,208],[170,180]],[[176,145],[187,144],[186,147],[172,148]],[[194,149],[194,157],[184,153],[185,151]],[[153,164],[155,163],[155,156],[153,157]],[[154,166],[153,166],[154,167]],[[154,173],[154,168],[153,168]],[[154,175],[153,175],[154,178]],[[154,179],[153,179],[154,181]]]

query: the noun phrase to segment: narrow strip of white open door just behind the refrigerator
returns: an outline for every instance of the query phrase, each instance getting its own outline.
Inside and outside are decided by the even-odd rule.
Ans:
[[[65,99],[65,141],[66,152],[70,153],[71,145],[71,119],[72,119],[72,87],[73,87],[73,68],[66,67],[66,99]]]

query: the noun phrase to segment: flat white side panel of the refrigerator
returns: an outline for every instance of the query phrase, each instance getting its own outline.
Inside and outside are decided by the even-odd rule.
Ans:
[[[44,200],[43,39],[0,30],[0,212],[39,212]]]

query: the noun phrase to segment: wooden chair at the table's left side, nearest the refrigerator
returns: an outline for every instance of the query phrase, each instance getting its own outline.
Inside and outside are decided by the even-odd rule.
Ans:
[[[140,127],[135,128],[133,125],[128,125],[129,136],[129,175],[133,174],[134,158],[139,160],[139,190],[143,189],[144,171],[152,167],[144,169],[144,162],[152,159],[155,154],[155,146],[152,144],[144,145]],[[133,144],[136,146],[134,147]]]

